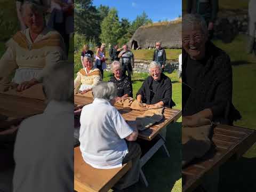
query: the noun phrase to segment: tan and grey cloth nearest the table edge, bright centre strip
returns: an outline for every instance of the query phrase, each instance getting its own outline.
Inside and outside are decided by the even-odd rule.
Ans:
[[[139,131],[148,129],[153,124],[163,119],[163,108],[161,109],[148,109],[142,115],[136,118],[137,128]]]

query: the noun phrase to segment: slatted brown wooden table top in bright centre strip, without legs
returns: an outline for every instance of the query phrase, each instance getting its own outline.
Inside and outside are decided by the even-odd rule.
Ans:
[[[74,97],[75,97],[75,104],[77,106],[84,106],[93,101],[93,98],[83,97],[79,95],[75,95]],[[115,103],[115,107],[131,127],[136,126],[136,124],[134,123],[136,117],[138,117],[139,115],[142,115],[145,112],[145,111],[139,111],[139,110],[132,110],[130,108],[124,108],[122,105],[119,105],[117,103]],[[165,108],[164,118],[162,119],[162,121],[149,127],[149,129],[146,129],[144,131],[139,131],[138,137],[141,139],[150,141],[158,134],[158,132],[161,129],[163,129],[163,127],[169,125],[171,122],[177,121],[178,118],[180,118],[180,116],[181,116],[181,110]]]

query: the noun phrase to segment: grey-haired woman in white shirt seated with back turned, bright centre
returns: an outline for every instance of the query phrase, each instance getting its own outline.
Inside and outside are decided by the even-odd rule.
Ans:
[[[115,185],[117,189],[129,187],[139,180],[141,150],[138,143],[131,142],[137,139],[138,130],[133,130],[113,106],[114,83],[99,82],[92,92],[94,101],[83,107],[80,117],[83,159],[97,169],[114,169],[132,161],[131,169]]]

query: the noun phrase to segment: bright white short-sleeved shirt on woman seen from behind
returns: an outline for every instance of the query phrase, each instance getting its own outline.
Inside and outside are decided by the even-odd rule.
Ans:
[[[95,98],[83,107],[80,123],[79,141],[84,161],[97,169],[121,167],[128,153],[124,138],[133,129],[118,110],[107,100]]]

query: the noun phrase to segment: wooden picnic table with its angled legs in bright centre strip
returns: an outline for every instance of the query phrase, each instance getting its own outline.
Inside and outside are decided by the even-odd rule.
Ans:
[[[75,95],[74,99],[77,107],[83,107],[93,101],[93,98],[84,97],[80,95]],[[129,122],[135,121],[136,117],[138,117],[139,115],[142,115],[145,112],[145,111],[139,111],[139,110],[132,110],[130,108],[124,108],[122,105],[119,105],[118,103],[115,103],[114,106],[118,109],[119,113],[121,113],[121,115],[124,117],[126,122],[131,126],[135,126],[135,124],[134,123],[130,124]],[[164,118],[162,119],[162,121],[149,127],[149,129],[147,130],[139,131],[138,137],[148,141],[153,140],[156,137],[156,135],[159,133],[159,131],[161,131],[161,129],[163,129],[170,123],[177,121],[178,118],[180,118],[181,110],[165,108],[163,115],[164,115]],[[141,167],[145,165],[149,161],[149,159],[156,153],[156,151],[161,147],[164,148],[166,155],[170,157],[169,152],[165,146],[165,140],[163,138],[160,138],[154,144],[154,146],[151,147],[147,151],[147,153],[140,158]],[[140,170],[140,175],[141,175],[142,181],[145,183],[146,186],[148,186],[148,181],[142,170]]]

